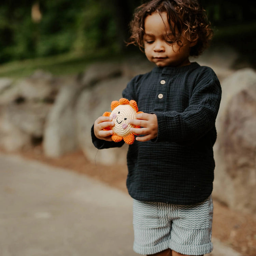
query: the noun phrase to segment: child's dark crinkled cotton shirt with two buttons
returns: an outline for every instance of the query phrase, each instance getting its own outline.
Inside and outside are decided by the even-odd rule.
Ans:
[[[127,153],[127,188],[141,201],[195,204],[212,193],[215,119],[221,86],[214,71],[197,62],[179,68],[155,67],[137,75],[123,90],[139,111],[156,114],[157,138],[135,141]],[[118,100],[118,99],[113,99]],[[92,128],[94,145],[119,147],[99,140]]]

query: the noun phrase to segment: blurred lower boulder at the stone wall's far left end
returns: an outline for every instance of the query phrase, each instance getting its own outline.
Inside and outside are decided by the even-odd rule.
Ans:
[[[50,109],[51,104],[32,101],[0,105],[0,147],[12,152],[40,142]]]

